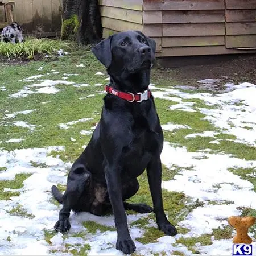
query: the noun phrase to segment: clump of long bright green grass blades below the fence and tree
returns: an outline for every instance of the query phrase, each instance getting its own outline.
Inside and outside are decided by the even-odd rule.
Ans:
[[[60,40],[26,38],[23,43],[0,42],[0,56],[8,59],[35,59],[37,55],[43,53],[56,55],[59,49],[69,51],[71,43]]]

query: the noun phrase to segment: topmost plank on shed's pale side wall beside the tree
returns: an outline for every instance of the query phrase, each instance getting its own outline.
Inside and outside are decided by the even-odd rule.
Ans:
[[[99,0],[100,5],[142,11],[143,0]]]

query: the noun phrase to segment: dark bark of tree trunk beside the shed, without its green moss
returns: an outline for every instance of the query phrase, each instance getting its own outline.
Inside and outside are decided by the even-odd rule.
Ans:
[[[75,35],[77,42],[93,44],[102,39],[98,0],[63,0],[63,19],[71,19],[73,15],[79,19],[79,28],[74,29],[77,32]],[[74,28],[76,28],[75,24]]]

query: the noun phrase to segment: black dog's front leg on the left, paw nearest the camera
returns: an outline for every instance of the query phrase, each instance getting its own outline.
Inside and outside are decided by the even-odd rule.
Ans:
[[[131,254],[136,247],[131,239],[125,208],[123,207],[122,189],[120,180],[120,167],[118,163],[106,164],[105,177],[108,185],[108,193],[110,203],[114,212],[115,226],[117,228],[117,250],[121,250],[124,254]]]

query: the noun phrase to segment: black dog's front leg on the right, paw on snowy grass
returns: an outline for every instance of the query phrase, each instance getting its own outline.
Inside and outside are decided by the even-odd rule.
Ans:
[[[152,196],[152,201],[154,205],[154,212],[156,215],[156,222],[158,228],[169,236],[174,236],[177,234],[177,230],[174,225],[172,225],[166,217],[163,208],[163,197],[162,197],[162,164],[160,156],[156,158],[153,156],[150,163],[147,166],[147,177],[148,183],[150,185],[150,192]]]

